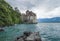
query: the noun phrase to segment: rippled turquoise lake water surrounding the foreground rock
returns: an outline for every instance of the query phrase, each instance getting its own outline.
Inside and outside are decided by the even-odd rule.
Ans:
[[[0,32],[0,41],[14,41],[24,31],[39,31],[42,41],[60,41],[60,23],[19,24],[4,30]]]

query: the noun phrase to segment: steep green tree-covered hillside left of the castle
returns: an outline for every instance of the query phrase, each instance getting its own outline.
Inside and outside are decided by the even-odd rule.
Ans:
[[[21,23],[20,14],[5,1],[0,0],[0,26]]]

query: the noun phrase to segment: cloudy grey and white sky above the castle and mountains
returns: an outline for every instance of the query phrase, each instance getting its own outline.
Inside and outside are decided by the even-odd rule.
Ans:
[[[33,11],[37,18],[60,17],[60,0],[6,0],[13,8],[18,7],[21,13]]]

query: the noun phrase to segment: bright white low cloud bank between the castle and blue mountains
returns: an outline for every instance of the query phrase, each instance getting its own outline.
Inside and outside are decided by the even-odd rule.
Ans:
[[[37,14],[37,18],[51,18],[51,17],[60,17],[60,7],[54,8],[51,11],[47,11],[48,9],[46,7],[37,7],[33,8],[32,11],[34,11]]]

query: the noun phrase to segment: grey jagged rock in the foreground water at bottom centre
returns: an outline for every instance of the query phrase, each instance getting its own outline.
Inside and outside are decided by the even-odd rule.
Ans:
[[[17,37],[16,41],[42,41],[39,32],[24,32],[23,36]]]

